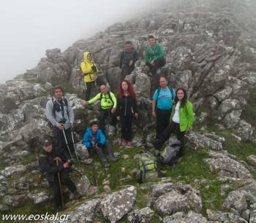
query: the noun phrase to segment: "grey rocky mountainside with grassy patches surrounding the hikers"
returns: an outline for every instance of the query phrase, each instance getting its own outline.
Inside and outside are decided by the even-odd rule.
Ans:
[[[256,222],[255,9],[253,0],[165,1],[162,8],[113,24],[64,52],[47,50],[37,67],[0,85],[1,212],[52,210],[52,195],[37,163],[42,136],[52,134],[44,114],[50,89],[56,84],[67,89],[78,153],[88,158],[79,149],[80,139],[99,111],[81,105],[78,64],[83,52],[92,52],[100,68],[98,83],[108,82],[116,92],[118,55],[129,39],[142,58],[127,76],[138,95],[136,147],[119,149],[111,128],[118,163],[109,171],[102,170],[96,157],[94,165],[74,165],[72,178],[83,199],[67,204],[68,222]],[[148,34],[157,36],[165,49],[167,63],[158,72],[173,87],[187,89],[196,122],[187,133],[181,163],[161,168],[166,178],[138,186],[132,176],[138,153],[154,154],[151,80],[143,60]]]

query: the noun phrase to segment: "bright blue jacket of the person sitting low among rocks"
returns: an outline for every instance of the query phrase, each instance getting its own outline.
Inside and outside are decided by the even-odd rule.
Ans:
[[[94,142],[94,144],[102,144],[105,145],[106,138],[104,134],[102,133],[102,130],[98,128],[96,132],[96,137],[94,138],[94,134],[92,133],[91,128],[87,128],[86,133],[83,136],[82,144],[85,145],[87,148],[91,147],[91,141]]]

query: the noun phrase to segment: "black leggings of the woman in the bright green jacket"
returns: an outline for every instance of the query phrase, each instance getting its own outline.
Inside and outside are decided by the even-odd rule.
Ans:
[[[182,157],[184,155],[184,135],[185,135],[185,132],[186,131],[181,132],[178,123],[171,121],[170,125],[168,125],[168,127],[165,128],[165,130],[159,136],[159,138],[157,138],[157,140],[154,141],[154,147],[156,149],[160,150],[162,148],[163,144],[165,144],[165,141],[170,137],[170,135],[172,133],[176,133],[178,140],[181,141],[181,149],[179,151],[178,156]]]

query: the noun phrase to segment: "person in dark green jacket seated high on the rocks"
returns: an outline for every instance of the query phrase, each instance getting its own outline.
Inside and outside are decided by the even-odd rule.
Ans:
[[[148,36],[148,48],[146,50],[146,65],[149,67],[148,76],[152,77],[151,81],[151,93],[156,90],[159,77],[157,75],[157,69],[161,66],[165,66],[165,52],[162,44],[156,42],[156,38],[152,35]]]

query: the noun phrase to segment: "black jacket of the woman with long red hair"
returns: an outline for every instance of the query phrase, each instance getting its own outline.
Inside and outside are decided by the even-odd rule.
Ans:
[[[118,97],[116,116],[134,116],[135,113],[138,113],[135,98],[132,96]]]

